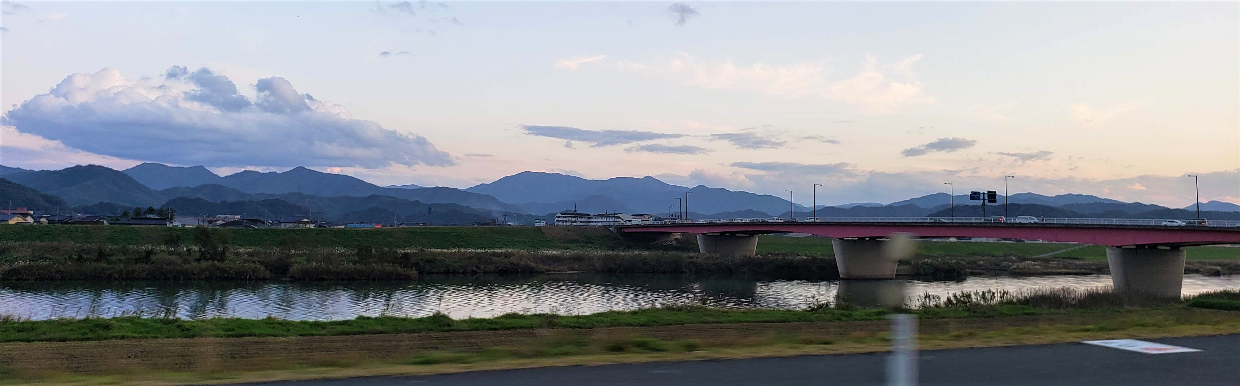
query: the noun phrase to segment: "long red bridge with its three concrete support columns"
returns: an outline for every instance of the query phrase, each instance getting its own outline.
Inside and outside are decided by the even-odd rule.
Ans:
[[[751,256],[756,235],[810,233],[831,237],[839,277],[895,277],[897,257],[883,240],[894,233],[916,237],[987,237],[1106,246],[1116,290],[1179,297],[1187,246],[1240,243],[1240,221],[1125,218],[759,218],[663,221],[619,226],[625,233],[694,233],[703,253]]]

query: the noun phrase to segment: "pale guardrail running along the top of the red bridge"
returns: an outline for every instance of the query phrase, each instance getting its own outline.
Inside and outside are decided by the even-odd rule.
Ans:
[[[1074,217],[765,217],[712,220],[658,220],[650,225],[670,223],[734,223],[734,222],[928,222],[928,223],[1059,223],[1059,225],[1136,225],[1183,227],[1240,227],[1234,220],[1172,220],[1172,218],[1074,218]]]

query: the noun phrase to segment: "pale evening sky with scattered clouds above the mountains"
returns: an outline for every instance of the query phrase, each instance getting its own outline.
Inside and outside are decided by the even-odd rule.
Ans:
[[[1240,2],[4,1],[0,164],[1240,204]],[[822,184],[816,187],[813,184]]]

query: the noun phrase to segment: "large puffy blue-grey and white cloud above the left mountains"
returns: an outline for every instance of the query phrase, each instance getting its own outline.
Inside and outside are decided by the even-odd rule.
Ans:
[[[119,71],[74,73],[0,117],[0,123],[67,146],[122,159],[207,166],[453,165],[417,134],[352,119],[339,105],[298,94],[288,79],[258,79],[257,97],[224,76],[172,67],[164,79]]]

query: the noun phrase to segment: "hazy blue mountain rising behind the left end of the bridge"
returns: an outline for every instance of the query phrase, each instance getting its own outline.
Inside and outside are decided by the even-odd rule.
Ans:
[[[688,207],[696,212],[756,210],[771,213],[787,207],[787,200],[776,196],[722,187],[689,189],[652,176],[588,180],[564,174],[523,171],[465,190],[491,195],[505,202],[526,202],[523,205],[582,201],[589,196],[601,195],[611,197],[634,212],[644,213],[666,212],[668,205],[678,204],[673,197],[683,197],[686,191],[693,192],[689,195]],[[804,209],[800,205],[797,207]]]

